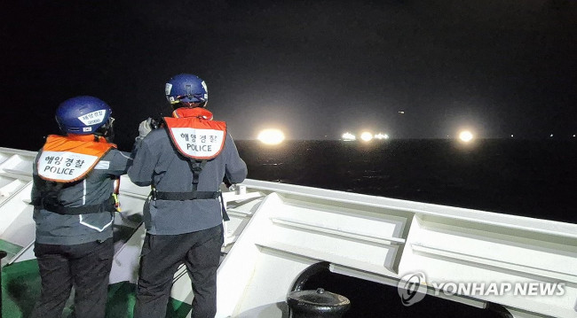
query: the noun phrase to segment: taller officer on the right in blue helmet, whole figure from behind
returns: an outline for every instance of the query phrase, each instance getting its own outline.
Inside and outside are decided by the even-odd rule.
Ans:
[[[224,209],[219,186],[242,182],[247,166],[224,121],[212,120],[204,107],[207,86],[193,74],[178,74],[165,86],[173,107],[162,129],[140,124],[130,180],[151,186],[145,203],[134,317],[164,317],[172,277],[186,265],[194,291],[192,317],[217,312],[217,268],[223,244]],[[150,132],[150,133],[148,133]]]

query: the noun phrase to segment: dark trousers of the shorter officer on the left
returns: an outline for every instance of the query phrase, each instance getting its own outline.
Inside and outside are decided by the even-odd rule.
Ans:
[[[36,243],[34,252],[42,286],[32,317],[61,317],[73,286],[75,317],[104,317],[115,252],[112,238],[74,245]]]

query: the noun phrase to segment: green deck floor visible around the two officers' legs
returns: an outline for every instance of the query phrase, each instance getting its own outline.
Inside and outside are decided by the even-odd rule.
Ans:
[[[40,295],[40,275],[36,260],[26,260],[2,268],[2,317],[28,317]],[[136,284],[115,283],[108,287],[107,318],[131,318],[136,301]],[[62,317],[74,316],[72,299],[69,299]],[[189,304],[170,299],[166,317],[186,317]]]

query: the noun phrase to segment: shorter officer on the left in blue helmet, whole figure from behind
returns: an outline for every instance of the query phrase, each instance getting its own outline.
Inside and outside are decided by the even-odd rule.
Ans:
[[[31,199],[42,288],[33,317],[60,317],[73,286],[76,317],[105,315],[115,183],[131,162],[111,143],[111,112],[96,97],[67,99],[56,111],[63,136],[48,136],[36,156]]]

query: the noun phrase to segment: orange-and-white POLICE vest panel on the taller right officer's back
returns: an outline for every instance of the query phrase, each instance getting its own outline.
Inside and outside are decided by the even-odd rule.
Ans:
[[[178,108],[173,118],[164,117],[170,140],[183,156],[194,160],[214,159],[225,148],[226,123],[212,120],[204,108]]]

